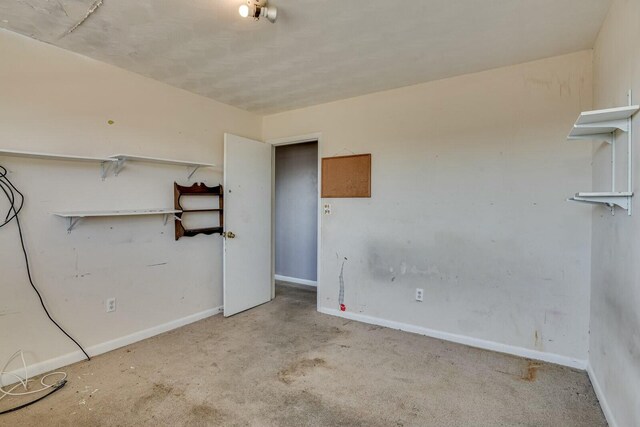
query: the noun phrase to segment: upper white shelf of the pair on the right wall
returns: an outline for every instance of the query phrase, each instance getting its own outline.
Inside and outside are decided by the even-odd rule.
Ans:
[[[604,139],[611,142],[611,134],[618,130],[629,131],[629,118],[640,106],[608,108],[606,110],[585,111],[569,133],[569,139]]]

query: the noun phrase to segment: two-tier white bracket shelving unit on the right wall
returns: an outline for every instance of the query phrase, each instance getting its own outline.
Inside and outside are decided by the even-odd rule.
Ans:
[[[625,209],[631,215],[633,197],[633,135],[632,116],[640,110],[633,105],[632,93],[628,93],[629,106],[580,113],[568,139],[606,141],[611,145],[611,191],[598,193],[576,193],[567,199],[575,202],[606,205],[615,213],[615,207]],[[627,191],[616,191],[616,133],[627,134]]]

